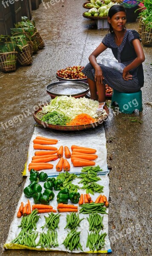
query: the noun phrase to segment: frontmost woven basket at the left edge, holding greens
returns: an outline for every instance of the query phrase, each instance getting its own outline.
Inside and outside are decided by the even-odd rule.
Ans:
[[[0,68],[3,72],[13,72],[16,70],[17,53],[0,53]]]

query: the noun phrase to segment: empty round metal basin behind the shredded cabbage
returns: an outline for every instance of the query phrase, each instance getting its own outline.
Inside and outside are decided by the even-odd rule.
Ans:
[[[46,92],[54,99],[56,96],[72,96],[80,98],[89,92],[88,84],[80,81],[59,81],[46,86]]]

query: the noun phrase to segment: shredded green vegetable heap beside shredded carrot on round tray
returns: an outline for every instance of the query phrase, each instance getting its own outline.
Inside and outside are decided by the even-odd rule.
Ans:
[[[47,122],[51,125],[66,125],[66,123],[70,122],[70,120],[71,118],[62,113],[58,113],[57,111],[47,113],[41,118],[41,121]]]

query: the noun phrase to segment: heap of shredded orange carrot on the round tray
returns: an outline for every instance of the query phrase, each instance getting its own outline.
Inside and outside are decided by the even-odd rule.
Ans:
[[[94,122],[95,122],[95,119],[92,116],[82,113],[75,116],[75,118],[71,122],[67,123],[66,125],[86,125]]]

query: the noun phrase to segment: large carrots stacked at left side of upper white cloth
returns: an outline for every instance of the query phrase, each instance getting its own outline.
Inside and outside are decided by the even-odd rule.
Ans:
[[[50,144],[56,144],[58,140],[49,139],[41,136],[37,136],[33,140],[34,149],[44,149],[48,151],[36,151],[35,155],[32,157],[32,162],[29,164],[29,171],[34,169],[35,171],[40,171],[43,169],[52,169],[53,165],[48,163],[50,161],[57,160],[57,148],[52,146],[47,146]],[[45,145],[46,144],[46,145]]]

